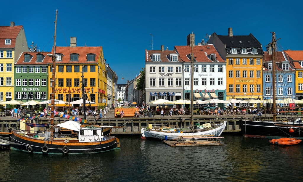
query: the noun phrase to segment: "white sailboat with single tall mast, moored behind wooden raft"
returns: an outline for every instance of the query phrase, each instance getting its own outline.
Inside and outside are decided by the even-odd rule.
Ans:
[[[193,37],[193,36],[192,36]],[[193,42],[193,41],[192,41]],[[191,55],[193,55],[193,45],[191,45]],[[223,121],[213,126],[209,123],[202,126],[194,126],[193,120],[193,78],[194,78],[194,56],[191,56],[191,106],[190,106],[190,126],[189,128],[148,127],[141,129],[142,139],[178,140],[180,137],[187,140],[205,140],[206,137],[219,137],[225,129],[227,121]],[[209,138],[208,138],[209,139]]]

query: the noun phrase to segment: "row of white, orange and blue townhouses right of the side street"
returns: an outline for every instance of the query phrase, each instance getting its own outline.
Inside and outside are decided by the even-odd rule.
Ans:
[[[269,35],[271,36],[271,35]],[[192,46],[191,46],[192,45]],[[174,50],[145,50],[145,101],[190,99],[191,47],[194,60],[194,99],[272,98],[271,50],[263,51],[252,35],[213,33],[207,42],[195,45],[195,35],[186,46]],[[303,99],[303,51],[280,51],[276,59],[278,99]]]

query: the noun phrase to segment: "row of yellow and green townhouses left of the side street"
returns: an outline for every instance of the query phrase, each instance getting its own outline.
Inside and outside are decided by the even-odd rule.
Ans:
[[[51,52],[33,48],[29,51],[23,26],[14,22],[0,26],[0,101],[50,99],[53,68],[48,54],[54,48]],[[56,46],[56,58],[56,99],[81,99],[84,84],[86,99],[96,103],[91,104],[92,108],[113,104],[118,77],[106,64],[102,46],[77,47],[76,37],[71,37],[69,47]]]

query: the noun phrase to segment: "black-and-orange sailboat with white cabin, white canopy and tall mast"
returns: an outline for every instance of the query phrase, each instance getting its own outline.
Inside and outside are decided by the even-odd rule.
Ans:
[[[54,51],[52,68],[56,67],[56,11]],[[114,136],[105,136],[104,127],[98,125],[84,125],[75,121],[66,121],[54,124],[55,106],[55,69],[52,69],[51,119],[48,129],[44,133],[33,131],[11,130],[9,134],[10,149],[34,154],[94,154],[120,148],[119,139]],[[33,124],[37,126],[38,124]],[[40,126],[40,125],[39,125]],[[64,129],[65,128],[65,129]],[[63,129],[63,130],[61,130]],[[66,130],[68,129],[68,130]],[[69,131],[64,134],[62,131]]]

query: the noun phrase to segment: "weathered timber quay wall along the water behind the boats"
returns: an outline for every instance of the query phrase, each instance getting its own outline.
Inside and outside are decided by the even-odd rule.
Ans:
[[[115,111],[109,110],[105,118],[98,119],[98,116],[88,116],[86,119],[88,124],[98,124],[101,126],[117,126],[125,128],[113,128],[113,135],[139,135],[141,134],[141,129],[147,127],[148,124],[153,124],[154,126],[170,126],[170,127],[188,127],[190,122],[189,115],[150,115],[145,114],[142,117],[115,117]],[[247,118],[250,120],[258,120],[259,116],[254,114],[224,114],[224,115],[193,115],[194,125],[202,125],[205,123],[218,123],[221,120],[226,120],[227,125],[223,133],[239,132],[241,131],[238,119]],[[80,116],[82,118],[82,116]],[[97,121],[95,121],[98,119]],[[270,119],[270,118],[269,118]],[[37,120],[38,123],[46,124],[48,123],[48,118],[40,118]],[[55,123],[63,123],[68,121],[66,118],[55,117]],[[21,121],[22,122],[22,121]],[[32,121],[34,122],[34,121]],[[97,122],[97,123],[96,123]],[[11,116],[0,117],[0,132],[8,132],[10,128],[19,128],[20,121],[18,119],[12,118]],[[37,128],[38,131],[38,128]]]

